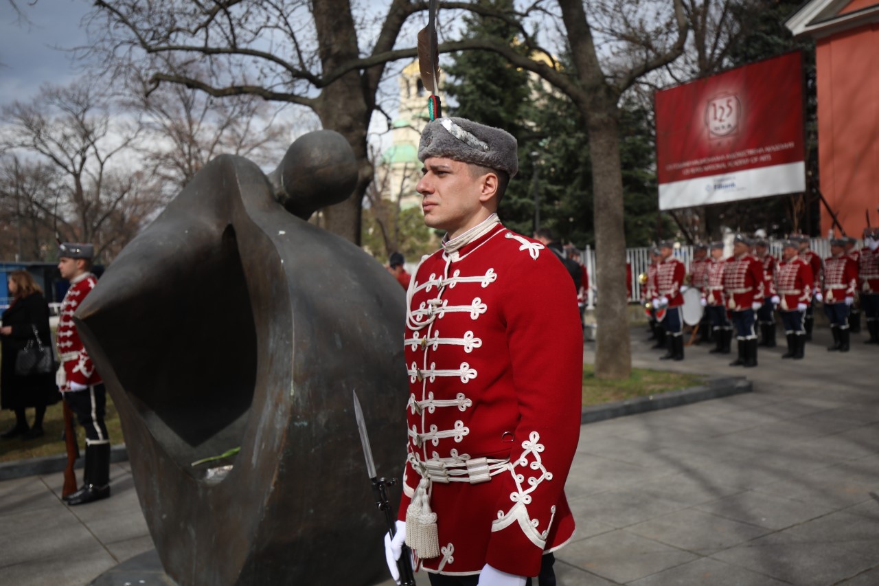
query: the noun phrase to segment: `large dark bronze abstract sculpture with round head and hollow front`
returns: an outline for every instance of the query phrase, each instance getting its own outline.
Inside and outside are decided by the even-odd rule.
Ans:
[[[404,439],[377,431],[402,429],[403,291],[305,221],[356,178],[331,131],[301,137],[270,177],[218,157],[76,311],[179,584],[367,584],[387,571],[351,393],[392,474]]]

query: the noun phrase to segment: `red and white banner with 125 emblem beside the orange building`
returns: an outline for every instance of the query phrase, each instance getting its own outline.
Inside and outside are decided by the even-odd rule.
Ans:
[[[805,188],[799,51],[656,92],[659,208]]]

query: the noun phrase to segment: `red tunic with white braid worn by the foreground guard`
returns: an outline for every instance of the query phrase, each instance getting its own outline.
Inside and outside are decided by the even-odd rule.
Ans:
[[[563,488],[580,429],[583,334],[570,275],[498,223],[422,261],[407,297],[398,518],[427,496],[440,553],[415,553],[428,572],[472,575],[489,563],[537,575],[574,531]]]

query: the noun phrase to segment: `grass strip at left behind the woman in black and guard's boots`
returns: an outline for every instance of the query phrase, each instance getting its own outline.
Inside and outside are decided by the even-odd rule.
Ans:
[[[25,414],[27,414],[27,423],[33,424],[33,408],[26,409]],[[76,422],[76,415],[74,415],[74,421]],[[113,405],[113,399],[110,399],[110,393],[107,393],[104,422],[110,436],[110,443],[123,443],[125,440],[122,438],[119,414],[116,413],[116,407]],[[13,427],[15,427],[15,413],[7,409],[0,411],[0,433]],[[64,409],[61,401],[47,407],[43,429],[46,430],[46,435],[32,440],[23,440],[20,437],[0,439],[0,462],[66,454],[67,448],[61,439],[64,431]],[[76,429],[80,453],[84,454],[85,430],[79,424],[76,424],[74,429]]]

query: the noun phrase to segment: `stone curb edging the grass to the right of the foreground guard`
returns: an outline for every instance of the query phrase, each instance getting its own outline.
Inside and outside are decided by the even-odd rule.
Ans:
[[[586,407],[580,417],[580,425],[752,391],[753,385],[745,377],[717,377],[708,380],[706,385],[694,386],[689,389],[663,392],[649,397],[627,399],[596,407]]]

